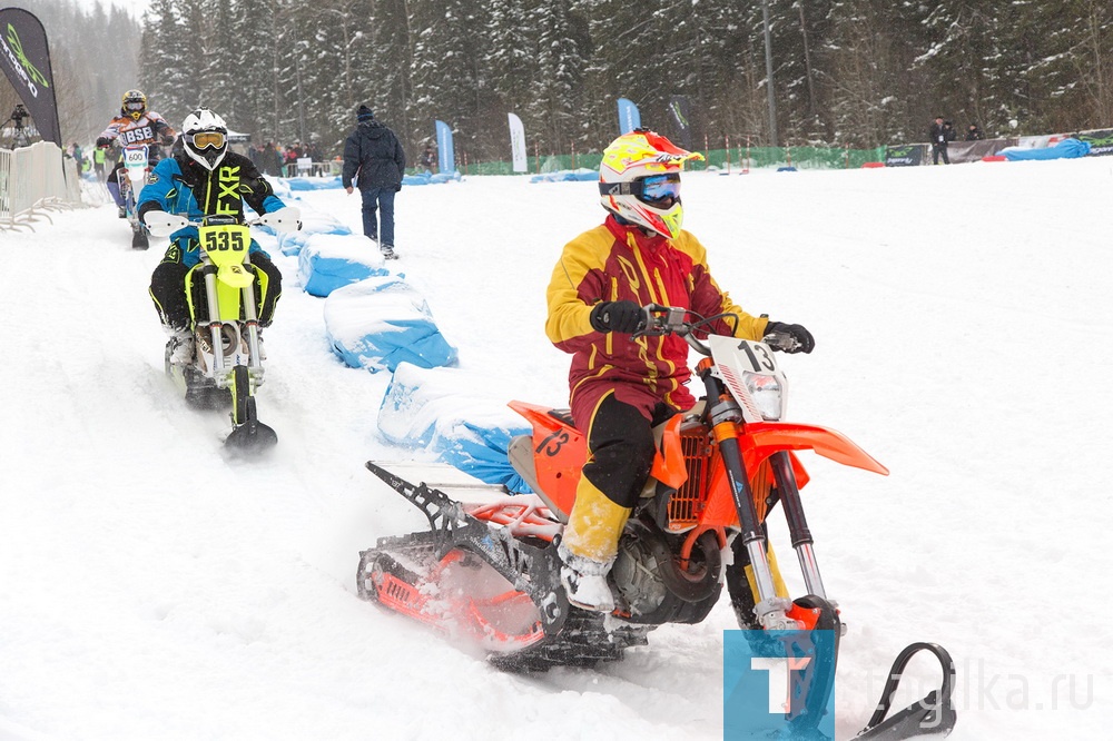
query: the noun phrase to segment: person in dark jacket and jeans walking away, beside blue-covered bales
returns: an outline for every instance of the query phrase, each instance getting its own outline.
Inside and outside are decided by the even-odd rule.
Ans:
[[[394,131],[375,120],[366,106],[356,112],[358,126],[344,142],[344,189],[352,194],[355,178],[363,196],[363,233],[378,243],[387,259],[394,254],[394,194],[402,190],[402,174],[406,169],[406,155]],[[382,209],[380,224],[375,211]]]

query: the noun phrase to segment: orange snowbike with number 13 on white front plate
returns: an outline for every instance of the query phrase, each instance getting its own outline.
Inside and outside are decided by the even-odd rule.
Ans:
[[[697,375],[706,398],[654,431],[659,444],[650,478],[608,577],[614,612],[571,606],[558,576],[554,541],[575,498],[584,435],[567,411],[521,402],[510,406],[533,433],[511,441],[509,458],[534,494],[463,503],[367,463],[422,510],[430,528],[381,539],[361,554],[362,597],[471,636],[492,661],[515,669],[617,659],[647,643],[657,625],[702,621],[723,583],[742,629],[830,630],[837,645],[839,613],[820,577],[800,498],[809,477],[795,451],[888,471],[835,431],[781,421],[787,382],[771,350],[794,349],[791,337],[769,335],[755,343],[712,334],[700,340],[697,333],[711,319],[689,322],[686,309],[657,305],[644,312],[644,334],[674,333],[705,356]],[[807,590],[795,600],[767,542],[766,518],[777,504]],[[834,678],[834,666],[827,669]],[[825,698],[830,689],[812,685],[808,693]]]

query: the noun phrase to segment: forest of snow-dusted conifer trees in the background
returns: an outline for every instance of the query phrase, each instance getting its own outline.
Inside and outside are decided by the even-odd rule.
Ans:
[[[686,97],[700,147],[771,139],[762,0],[151,0],[138,22],[72,1],[32,9],[49,21],[67,138],[138,86],[175,125],[207,105],[256,142],[329,154],[361,102],[411,156],[440,119],[472,161],[509,159],[508,112],[531,154],[598,151],[618,134],[619,97],[663,132],[670,98]],[[1109,0],[768,11],[781,145],[923,141],[936,115],[987,136],[1113,126]]]

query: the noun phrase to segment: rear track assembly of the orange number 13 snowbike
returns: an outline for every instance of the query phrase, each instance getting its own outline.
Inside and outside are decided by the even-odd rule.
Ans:
[[[490,640],[490,661],[501,669],[544,671],[552,666],[584,666],[615,660],[633,645],[644,645],[649,626],[604,628],[605,615],[572,607],[555,581],[556,547],[544,539],[514,537],[509,527],[469,514],[464,505],[424,483],[413,485],[367,462],[367,468],[416,506],[430,530],[380,539],[359,554],[356,585],[362,599],[407,614],[435,629],[450,630],[451,620],[429,600],[446,564],[477,557],[512,585],[498,597],[502,603],[528,597],[536,610],[530,629],[506,634],[485,621],[482,606],[456,610],[454,621],[472,634]],[[434,595],[435,596],[435,595]],[[461,620],[470,621],[459,625]]]

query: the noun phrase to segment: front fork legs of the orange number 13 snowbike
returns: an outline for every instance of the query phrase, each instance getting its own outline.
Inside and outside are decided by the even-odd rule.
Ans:
[[[730,493],[738,512],[741,525],[739,537],[750,557],[754,569],[754,581],[757,584],[757,604],[755,613],[758,622],[766,630],[797,630],[801,623],[788,616],[792,607],[791,600],[777,595],[772,569],[766,552],[766,536],[758,521],[757,507],[754,503],[754,491],[750,487],[746,466],[742,464],[741,448],[738,444],[738,425],[743,422],[738,403],[726,393],[722,382],[711,375],[710,365],[700,368],[700,378],[707,388],[708,399],[716,399],[708,414],[711,431],[722,456],[723,467],[730,482]],[[770,456],[777,491],[785,507],[788,528],[804,572],[805,584],[809,594],[826,600],[823,579],[812,549],[811,532],[800,503],[800,490],[796,484],[796,475],[788,452],[779,451]]]

